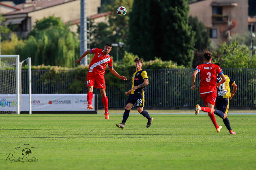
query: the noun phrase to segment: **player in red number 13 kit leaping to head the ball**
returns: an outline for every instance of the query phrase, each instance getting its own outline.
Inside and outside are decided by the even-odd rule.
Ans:
[[[78,64],[87,54],[89,53],[95,54],[91,60],[88,74],[87,74],[87,87],[88,87],[87,109],[93,109],[93,106],[92,106],[93,87],[99,88],[100,94],[102,97],[102,102],[104,104],[104,109],[105,109],[104,115],[106,119],[109,119],[108,98],[106,96],[106,85],[105,85],[105,79],[104,79],[106,65],[108,64],[110,72],[114,74],[116,77],[122,80],[127,80],[125,76],[119,75],[113,68],[113,64],[112,64],[113,61],[109,55],[109,52],[111,51],[111,49],[112,49],[112,45],[109,43],[105,45],[103,50],[98,48],[92,48],[90,50],[85,51],[83,55],[78,60],[76,60]]]

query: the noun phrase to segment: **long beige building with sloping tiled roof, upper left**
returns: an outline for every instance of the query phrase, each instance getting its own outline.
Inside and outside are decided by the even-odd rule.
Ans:
[[[98,14],[101,0],[86,0],[86,3],[87,16]],[[33,29],[36,20],[44,17],[54,15],[60,17],[64,23],[80,20],[80,4],[80,0],[27,0],[24,4],[16,5],[16,10],[5,13],[3,16],[7,25],[18,25],[16,31],[18,36],[26,37]]]

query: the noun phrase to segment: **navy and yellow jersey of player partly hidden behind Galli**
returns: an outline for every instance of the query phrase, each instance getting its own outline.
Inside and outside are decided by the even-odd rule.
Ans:
[[[233,85],[235,83],[235,81],[227,76],[227,75],[224,75],[227,79],[226,82],[224,82],[223,84],[221,84],[218,88],[217,88],[217,98],[229,98],[231,97],[230,95],[230,85]],[[217,76],[217,83],[219,83],[221,81],[221,77],[218,75]]]

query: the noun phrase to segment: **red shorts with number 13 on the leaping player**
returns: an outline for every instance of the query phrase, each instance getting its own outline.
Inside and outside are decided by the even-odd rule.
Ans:
[[[87,87],[93,86],[95,88],[106,89],[104,75],[102,74],[94,74],[88,72],[87,74]]]

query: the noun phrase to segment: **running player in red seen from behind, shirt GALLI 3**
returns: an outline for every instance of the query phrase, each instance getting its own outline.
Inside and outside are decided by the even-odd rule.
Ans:
[[[200,91],[201,99],[204,101],[206,107],[200,107],[199,104],[197,104],[195,113],[197,115],[200,110],[207,112],[217,132],[220,132],[220,129],[222,128],[222,126],[217,125],[215,116],[212,113],[215,113],[216,115],[222,118],[227,116],[227,115],[224,115],[222,111],[214,109],[215,101],[217,97],[216,87],[219,87],[222,83],[226,82],[226,77],[224,76],[221,68],[216,64],[212,64],[211,60],[212,60],[212,54],[209,51],[206,51],[204,53],[205,63],[199,64],[196,67],[194,73],[192,74],[192,86],[190,88],[192,90],[195,89],[196,75],[200,72],[201,82],[200,82],[199,91]],[[219,83],[216,83],[217,75],[220,75],[220,77],[222,78],[222,80]]]

